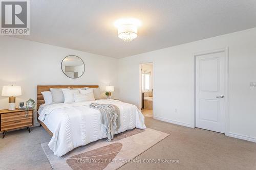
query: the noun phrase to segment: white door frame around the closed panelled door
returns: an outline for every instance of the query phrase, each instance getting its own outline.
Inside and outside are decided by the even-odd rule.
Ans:
[[[195,53],[193,55],[194,60],[194,71],[193,71],[193,77],[194,77],[194,108],[193,108],[193,117],[192,117],[192,127],[196,128],[196,57],[206,54],[213,54],[213,53],[220,53],[224,52],[225,55],[225,61],[226,61],[226,68],[225,68],[225,135],[229,136],[229,52],[228,47],[219,48],[217,50],[209,50],[204,51],[200,53]]]

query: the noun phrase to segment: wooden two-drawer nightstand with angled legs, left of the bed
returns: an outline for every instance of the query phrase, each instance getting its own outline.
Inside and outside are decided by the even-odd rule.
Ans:
[[[25,110],[0,110],[0,132],[3,132],[3,138],[7,131],[27,128],[30,132],[31,126],[34,125],[33,110],[29,109],[28,114]]]

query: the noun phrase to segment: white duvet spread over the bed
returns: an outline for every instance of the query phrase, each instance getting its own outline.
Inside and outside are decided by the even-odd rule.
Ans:
[[[100,124],[100,113],[89,107],[91,103],[113,104],[119,108],[121,124],[115,134],[146,128],[144,116],[135,105],[117,100],[41,105],[38,119],[53,133],[48,145],[54,155],[65,155],[76,147],[106,137]]]

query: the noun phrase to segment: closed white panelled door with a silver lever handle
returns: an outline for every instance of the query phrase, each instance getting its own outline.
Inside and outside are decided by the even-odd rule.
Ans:
[[[196,56],[196,127],[225,133],[225,51]]]

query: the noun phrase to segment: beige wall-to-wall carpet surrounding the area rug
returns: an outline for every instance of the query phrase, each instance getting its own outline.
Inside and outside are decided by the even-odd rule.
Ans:
[[[255,170],[256,143],[227,137],[203,129],[192,129],[145,117],[147,128],[170,134],[150,149],[138,155],[139,159],[177,159],[179,163],[130,162],[118,170],[155,169],[218,169]],[[51,136],[42,127],[7,132],[0,138],[0,169],[51,170],[41,148]]]

